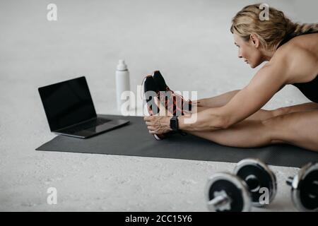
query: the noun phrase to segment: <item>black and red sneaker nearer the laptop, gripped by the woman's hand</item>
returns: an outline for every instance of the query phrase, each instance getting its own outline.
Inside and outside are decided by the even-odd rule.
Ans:
[[[153,80],[153,76],[146,76],[143,83],[143,92],[146,97],[147,109],[150,115],[158,114],[160,111],[159,106],[155,102],[155,98],[158,98],[158,87]],[[153,134],[156,140],[162,140],[165,138],[163,134]]]

